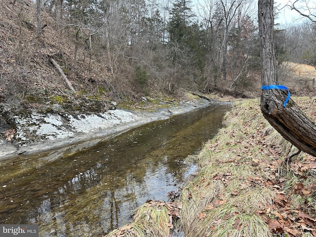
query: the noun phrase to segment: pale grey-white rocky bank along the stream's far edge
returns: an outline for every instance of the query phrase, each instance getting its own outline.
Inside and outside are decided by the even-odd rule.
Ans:
[[[156,109],[155,112],[116,109],[98,114],[32,113],[30,116],[14,116],[14,130],[6,124],[2,125],[4,130],[2,133],[6,134],[6,138],[10,138],[10,132],[12,137],[0,139],[0,159],[21,154],[36,154],[55,148],[61,153],[63,148],[69,150],[71,146],[75,152],[133,127],[167,119],[172,115],[205,107],[210,103],[206,99],[199,98],[167,104],[163,108]],[[54,151],[50,152],[54,153]]]

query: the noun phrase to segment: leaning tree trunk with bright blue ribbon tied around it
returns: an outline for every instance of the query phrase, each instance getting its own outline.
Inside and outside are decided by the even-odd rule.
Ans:
[[[273,6],[274,0],[258,1],[263,86],[261,111],[286,140],[299,150],[316,157],[316,123],[309,119],[291,98],[288,99],[289,92],[286,87],[277,83]]]

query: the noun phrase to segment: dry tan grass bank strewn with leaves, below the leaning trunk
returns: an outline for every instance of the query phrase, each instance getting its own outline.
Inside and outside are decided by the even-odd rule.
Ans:
[[[313,100],[294,101],[315,118]],[[296,148],[263,118],[257,99],[234,102],[226,123],[197,155],[201,169],[182,192],[185,236],[314,236],[315,158],[301,153],[283,163]]]

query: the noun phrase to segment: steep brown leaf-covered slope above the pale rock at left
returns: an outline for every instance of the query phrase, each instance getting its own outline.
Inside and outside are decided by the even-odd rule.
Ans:
[[[110,73],[100,61],[89,58],[83,46],[76,49],[77,60],[74,60],[76,31],[71,26],[64,31],[56,18],[42,10],[43,29],[40,38],[36,37],[36,3],[29,0],[2,0],[0,19],[2,116],[23,109],[45,111],[51,104],[61,102],[66,109],[68,105],[69,110],[84,111],[93,109],[86,106],[87,101],[93,105],[93,100],[115,97],[110,89]],[[76,93],[67,86],[51,58]]]

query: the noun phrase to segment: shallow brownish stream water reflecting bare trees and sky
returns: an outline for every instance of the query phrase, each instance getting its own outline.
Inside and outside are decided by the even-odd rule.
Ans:
[[[39,224],[40,237],[102,236],[147,199],[168,200],[196,170],[187,158],[222,127],[229,104],[152,122],[96,146],[0,161],[0,224]]]

